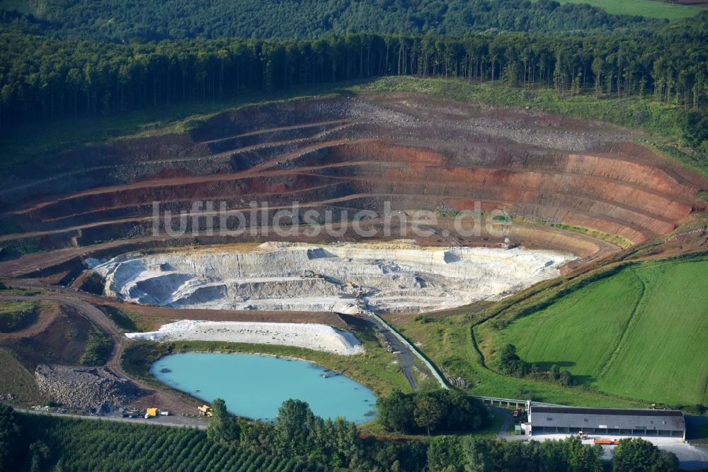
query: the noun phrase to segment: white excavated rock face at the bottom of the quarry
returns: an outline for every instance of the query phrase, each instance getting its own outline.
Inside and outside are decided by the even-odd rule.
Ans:
[[[420,313],[503,298],[573,259],[522,248],[270,242],[123,254],[93,270],[108,296],[171,308]]]

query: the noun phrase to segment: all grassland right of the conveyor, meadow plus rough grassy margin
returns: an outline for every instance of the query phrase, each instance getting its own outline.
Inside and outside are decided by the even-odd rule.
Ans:
[[[707,269],[704,258],[620,264],[541,283],[482,313],[394,324],[439,366],[472,381],[478,395],[567,405],[706,404]],[[525,361],[559,364],[580,384],[501,375],[496,352],[508,342]]]

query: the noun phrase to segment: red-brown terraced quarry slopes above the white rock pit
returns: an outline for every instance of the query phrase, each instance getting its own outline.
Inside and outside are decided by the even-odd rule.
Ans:
[[[384,202],[394,212],[445,215],[424,244],[501,244],[504,238],[484,228],[474,237],[448,235],[453,225],[447,216],[505,210],[526,222],[508,230],[506,243],[598,259],[619,248],[592,231],[639,244],[704,209],[696,198],[706,187],[703,179],[637,144],[642,139],[605,123],[409,94],[251,106],[222,113],[193,133],[77,150],[31,174],[18,169],[0,190],[0,201],[8,203],[1,220],[21,228],[0,235],[0,259],[6,259],[0,275],[38,275],[55,266],[52,274],[66,278],[80,273],[77,257],[92,253],[272,239],[260,220],[251,221],[253,201],[268,201],[271,212],[297,201],[302,210],[349,218],[358,210],[382,217]],[[253,232],[209,235],[202,228],[215,212],[200,210],[188,213],[187,235],[152,234],[154,205],[176,221],[195,201],[244,212]],[[399,236],[385,232],[382,220],[365,224],[375,237]],[[312,240],[305,229],[290,239]],[[360,236],[350,228],[315,239]],[[28,241],[52,252],[10,260]]]

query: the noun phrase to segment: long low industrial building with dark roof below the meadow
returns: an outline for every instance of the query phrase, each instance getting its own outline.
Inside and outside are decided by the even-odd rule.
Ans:
[[[686,424],[679,410],[630,410],[531,406],[526,434],[598,434],[657,436],[686,439]]]

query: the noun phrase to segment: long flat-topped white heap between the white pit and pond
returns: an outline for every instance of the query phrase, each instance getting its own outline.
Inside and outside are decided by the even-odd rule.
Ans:
[[[147,341],[224,341],[279,344],[353,356],[364,347],[352,333],[315,323],[263,323],[240,321],[181,320],[162,325],[158,331],[131,332],[130,339]]]

